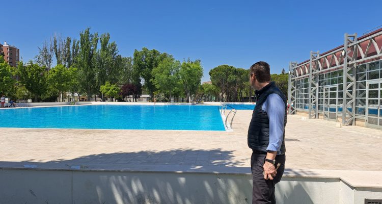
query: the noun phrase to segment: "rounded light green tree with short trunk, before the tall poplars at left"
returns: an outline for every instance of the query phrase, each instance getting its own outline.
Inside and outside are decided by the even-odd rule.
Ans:
[[[59,93],[59,102],[62,102],[62,95],[64,91],[69,90],[71,79],[71,74],[69,72],[69,69],[64,67],[64,65],[57,65],[56,67],[53,67],[50,69],[48,77],[47,77],[47,83],[48,85],[57,90]]]

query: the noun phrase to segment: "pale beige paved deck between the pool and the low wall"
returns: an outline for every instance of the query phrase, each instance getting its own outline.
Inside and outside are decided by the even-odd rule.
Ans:
[[[238,110],[232,132],[1,128],[0,168],[250,172],[251,114]],[[335,124],[288,116],[286,174],[347,175],[352,184],[382,187],[382,131]]]

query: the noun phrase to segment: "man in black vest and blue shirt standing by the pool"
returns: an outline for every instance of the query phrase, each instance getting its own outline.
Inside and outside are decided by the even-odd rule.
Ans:
[[[252,203],[274,204],[275,185],[285,168],[287,100],[275,82],[270,82],[266,62],[251,66],[250,84],[256,90],[256,106],[248,129],[248,146],[252,149]]]

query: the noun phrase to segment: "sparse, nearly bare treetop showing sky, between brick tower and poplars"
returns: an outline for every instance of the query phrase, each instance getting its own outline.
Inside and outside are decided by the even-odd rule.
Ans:
[[[53,52],[54,52],[54,46],[52,38],[49,39],[49,41],[45,41],[42,44],[42,47],[38,47],[39,54],[35,57],[36,63],[40,67],[46,67],[46,69],[50,69],[53,62]]]

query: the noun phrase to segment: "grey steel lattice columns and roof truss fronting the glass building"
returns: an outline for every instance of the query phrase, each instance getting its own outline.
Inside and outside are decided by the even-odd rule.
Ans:
[[[308,115],[309,118],[318,118],[319,74],[343,70],[342,123],[355,125],[357,64],[382,57],[382,41],[376,40],[379,36],[382,36],[382,29],[360,38],[357,38],[357,33],[345,33],[343,45],[321,55],[319,52],[310,52],[309,60],[300,64],[290,62],[289,114],[296,113],[296,80],[309,78]]]

